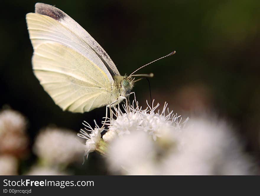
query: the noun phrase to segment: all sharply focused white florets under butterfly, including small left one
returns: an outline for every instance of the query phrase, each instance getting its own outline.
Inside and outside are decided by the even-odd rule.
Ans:
[[[171,145],[176,139],[176,135],[182,129],[183,124],[180,124],[181,118],[177,114],[173,114],[173,111],[169,112],[167,104],[164,104],[163,111],[156,113],[155,110],[158,108],[159,103],[156,106],[149,106],[142,110],[137,105],[134,107],[134,102],[131,106],[123,106],[124,112],[120,108],[114,107],[113,115],[116,119],[111,119],[105,122],[108,125],[108,131],[101,138],[101,132],[104,128],[99,128],[96,124],[95,129],[92,129],[90,125],[85,122],[85,128],[87,131],[92,132],[88,134],[86,131],[81,130],[81,134],[78,136],[86,139],[86,154],[93,151],[98,151],[101,154],[106,154],[107,144],[112,143],[112,140],[117,137],[123,137],[124,135],[130,135],[133,132],[142,132],[144,135],[150,137],[154,141],[157,140],[158,144]],[[165,111],[168,111],[166,114]],[[188,120],[188,118],[187,118]],[[135,133],[136,134],[136,133]],[[157,138],[160,138],[159,140]],[[145,143],[145,142],[144,142]]]

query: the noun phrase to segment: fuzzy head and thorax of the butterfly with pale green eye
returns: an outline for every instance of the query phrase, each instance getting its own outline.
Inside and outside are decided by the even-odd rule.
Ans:
[[[131,89],[134,87],[134,78],[127,77],[127,76],[121,76],[121,75],[115,75],[113,76],[114,84],[112,85],[112,98],[111,103],[118,100],[115,104],[120,103],[124,100],[124,97],[126,97]]]

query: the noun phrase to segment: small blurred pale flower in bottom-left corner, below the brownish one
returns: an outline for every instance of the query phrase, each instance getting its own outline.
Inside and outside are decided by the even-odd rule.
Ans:
[[[14,156],[0,156],[0,175],[17,175],[18,160]]]

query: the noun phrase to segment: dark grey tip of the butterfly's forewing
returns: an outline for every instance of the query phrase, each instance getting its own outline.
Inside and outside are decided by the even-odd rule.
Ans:
[[[43,4],[43,3],[35,4],[35,13],[49,16],[58,21],[66,17],[65,13],[60,9],[56,8],[55,6]]]

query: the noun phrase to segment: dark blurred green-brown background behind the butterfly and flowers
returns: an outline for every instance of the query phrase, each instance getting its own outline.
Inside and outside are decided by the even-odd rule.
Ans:
[[[1,4],[1,108],[12,108],[29,121],[31,139],[46,126],[79,131],[82,121],[100,123],[105,107],[79,114],[62,111],[32,72],[25,14],[38,1]],[[121,75],[176,50],[138,73],[154,73],[152,98],[184,116],[214,112],[246,141],[259,163],[260,1],[41,1],[56,5],[85,28],[105,49]],[[134,87],[145,106],[147,81]],[[26,170],[34,155],[22,162]],[[106,174],[92,153],[76,174]]]

